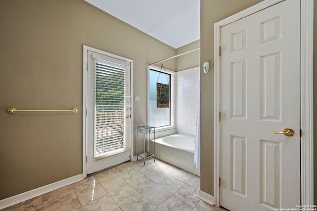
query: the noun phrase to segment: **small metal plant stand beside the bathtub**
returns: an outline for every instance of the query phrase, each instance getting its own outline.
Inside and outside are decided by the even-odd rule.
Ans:
[[[139,133],[143,133],[143,153],[138,154],[138,135]],[[148,148],[150,149],[150,134],[153,133],[154,135],[154,150],[153,153],[148,152]],[[147,148],[145,147],[147,145]],[[149,146],[149,147],[148,147]],[[145,159],[146,158],[154,158],[155,161],[155,127],[154,126],[149,126],[149,125],[144,125],[144,126],[138,126],[137,127],[137,160],[139,157],[143,158],[144,164],[145,164]]]

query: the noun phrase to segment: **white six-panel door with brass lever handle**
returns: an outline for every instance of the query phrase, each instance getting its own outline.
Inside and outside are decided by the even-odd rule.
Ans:
[[[300,1],[220,29],[220,205],[300,205]],[[293,129],[293,136],[274,134]],[[286,132],[288,133],[288,132]]]

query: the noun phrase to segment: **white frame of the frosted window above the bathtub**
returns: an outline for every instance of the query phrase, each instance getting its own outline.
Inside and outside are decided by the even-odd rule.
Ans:
[[[161,70],[160,67],[155,66],[155,65],[147,65],[148,70],[147,70],[147,124],[150,124],[150,69],[156,70],[156,71],[161,71],[162,73],[167,73],[170,74],[170,125],[167,126],[161,126],[161,127],[156,127],[155,131],[164,131],[164,130],[170,130],[170,129],[175,129],[176,128],[176,112],[175,112],[175,89],[176,89],[176,72],[168,70],[165,68],[164,70]]]

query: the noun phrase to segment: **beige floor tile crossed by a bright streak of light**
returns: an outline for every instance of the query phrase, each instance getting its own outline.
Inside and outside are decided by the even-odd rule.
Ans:
[[[93,202],[99,199],[100,197],[105,196],[106,194],[107,192],[99,183],[96,183],[96,185],[93,187],[88,187],[76,193],[81,206]]]

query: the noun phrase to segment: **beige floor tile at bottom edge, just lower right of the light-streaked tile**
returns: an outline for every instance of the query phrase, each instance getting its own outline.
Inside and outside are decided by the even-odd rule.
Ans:
[[[117,208],[119,208],[119,206],[108,194],[83,206],[84,211],[113,211]]]

